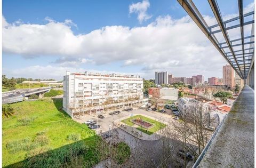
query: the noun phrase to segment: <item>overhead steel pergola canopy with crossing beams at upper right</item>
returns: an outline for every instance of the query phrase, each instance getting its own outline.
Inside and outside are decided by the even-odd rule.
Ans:
[[[223,20],[217,0],[208,0],[212,9],[217,24],[208,26],[202,14],[198,11],[197,7],[192,0],[177,0],[185,11],[194,20],[196,25],[203,31],[207,38],[217,48],[221,55],[228,61],[236,73],[242,78],[246,79],[252,64],[254,63],[254,10],[248,13],[243,12],[243,0],[238,0],[239,16]],[[244,18],[250,18],[244,21]],[[237,24],[236,21],[239,20]],[[232,25],[232,26],[228,26]],[[244,26],[252,25],[251,33],[245,36]],[[230,39],[228,30],[240,28],[240,38]],[[219,42],[215,37],[217,33],[221,33],[225,41]],[[241,46],[242,50],[235,50],[234,47]],[[226,51],[228,50],[228,51]]]

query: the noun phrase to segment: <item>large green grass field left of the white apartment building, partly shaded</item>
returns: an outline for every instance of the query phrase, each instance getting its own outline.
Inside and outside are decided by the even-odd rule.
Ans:
[[[3,118],[3,167],[92,167],[103,159],[98,146],[105,141],[61,111],[62,99],[11,106],[15,116]]]

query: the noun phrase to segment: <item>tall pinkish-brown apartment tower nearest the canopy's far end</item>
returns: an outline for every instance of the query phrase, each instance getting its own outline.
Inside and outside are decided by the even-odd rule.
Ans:
[[[231,88],[235,86],[234,69],[230,65],[223,66],[223,85]]]

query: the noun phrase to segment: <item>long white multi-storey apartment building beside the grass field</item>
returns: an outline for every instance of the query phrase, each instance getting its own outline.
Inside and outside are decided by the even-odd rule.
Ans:
[[[146,105],[143,99],[143,80],[134,75],[73,73],[63,77],[63,110],[71,117]]]

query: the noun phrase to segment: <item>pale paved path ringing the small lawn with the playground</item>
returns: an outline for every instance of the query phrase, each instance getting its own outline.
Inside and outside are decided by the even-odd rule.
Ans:
[[[135,115],[142,115],[142,116],[145,116],[145,117],[148,117],[150,119],[156,119],[154,117],[150,117],[148,115],[145,115],[145,114],[135,114]],[[159,140],[162,138],[162,135],[159,134],[159,131],[156,131],[155,133],[151,134],[151,135],[148,135],[144,132],[141,132],[139,130],[136,129],[136,127],[138,127],[138,125],[135,125],[132,127],[132,126],[129,126],[129,125],[126,125],[124,124],[123,122],[121,122],[123,119],[126,119],[126,118],[130,118],[131,116],[125,116],[125,117],[122,117],[122,118],[119,118],[119,119],[116,119],[113,124],[118,127],[119,129],[122,129],[124,130],[125,132],[131,134],[133,137],[135,138],[138,138],[140,140],[145,140],[145,141],[156,141],[156,140]],[[162,123],[165,123],[165,122],[162,122]],[[166,123],[165,123],[166,124]],[[133,131],[133,132],[132,132]]]

